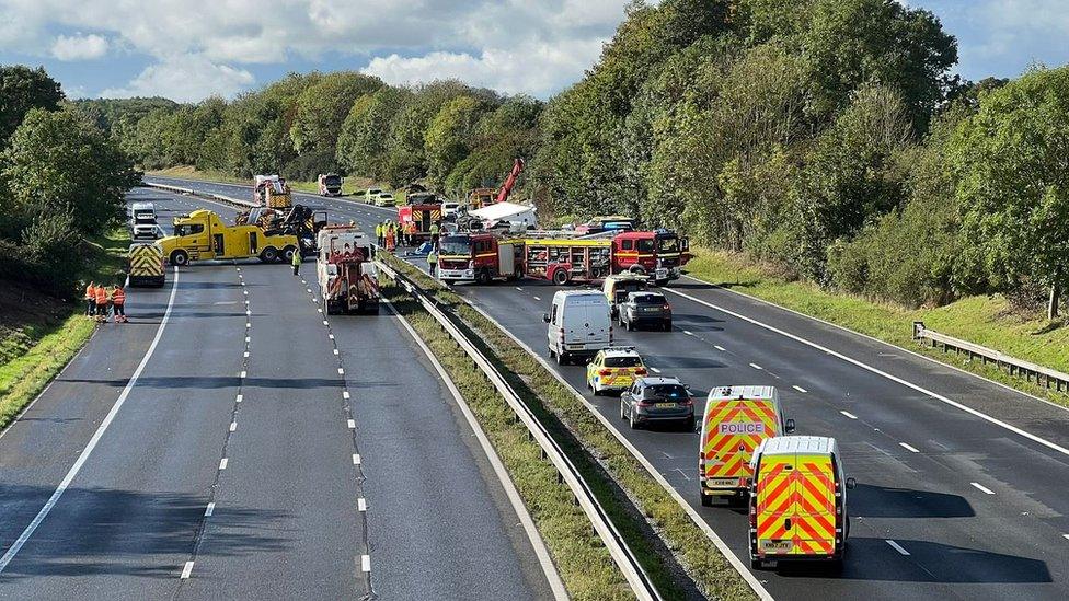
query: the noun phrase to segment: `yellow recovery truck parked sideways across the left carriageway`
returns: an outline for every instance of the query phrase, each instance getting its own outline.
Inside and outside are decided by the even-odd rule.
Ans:
[[[289,262],[298,249],[296,235],[267,235],[257,226],[228,226],[218,215],[204,209],[174,218],[174,235],[159,243],[173,265],[212,258]]]

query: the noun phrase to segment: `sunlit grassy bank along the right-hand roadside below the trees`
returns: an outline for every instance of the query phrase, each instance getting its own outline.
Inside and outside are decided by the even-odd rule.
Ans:
[[[957,368],[990,378],[1019,390],[1069,405],[1069,395],[1010,377],[991,365],[968,361],[966,356],[944,354],[912,339],[912,322],[931,330],[1069,373],[1069,327],[1042,315],[1014,312],[1001,297],[968,297],[936,309],[905,309],[887,303],[821,290],[785,278],[774,267],[756,264],[740,255],[698,250],[687,265],[696,278],[774,302],[806,315],[867,334],[918,351]]]

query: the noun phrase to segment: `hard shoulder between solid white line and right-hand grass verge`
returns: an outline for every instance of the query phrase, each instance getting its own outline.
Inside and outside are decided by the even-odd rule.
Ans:
[[[1069,448],[1069,411],[1059,405],[1038,401],[981,378],[905,352],[898,347],[779,309],[725,288],[685,278],[673,284],[669,290],[683,292],[801,336]],[[908,325],[904,323],[903,327]]]

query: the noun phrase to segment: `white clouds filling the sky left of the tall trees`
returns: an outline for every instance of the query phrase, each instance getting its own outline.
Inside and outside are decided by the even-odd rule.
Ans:
[[[353,67],[373,61],[372,69],[399,77],[422,79],[421,70],[433,76],[446,69],[446,77],[463,74],[483,85],[545,94],[590,66],[623,19],[627,2],[81,0],[78,10],[70,10],[70,0],[0,0],[0,51],[91,55],[96,51],[92,36],[71,36],[78,43],[65,42],[58,50],[51,39],[57,32],[96,32],[105,51],[157,61],[123,92],[156,89],[153,81],[182,70],[175,57],[197,57],[200,62],[185,70],[211,73],[199,88],[219,91],[251,80],[239,77],[244,66],[284,66],[295,57],[314,62],[340,54],[350,57]],[[525,61],[530,61],[526,69]],[[183,89],[192,93],[197,88]]]

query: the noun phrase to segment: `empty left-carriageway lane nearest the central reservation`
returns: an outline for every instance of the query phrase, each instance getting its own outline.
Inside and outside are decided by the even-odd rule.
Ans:
[[[330,322],[363,458],[376,594],[552,598],[501,482],[410,335],[386,308]]]

